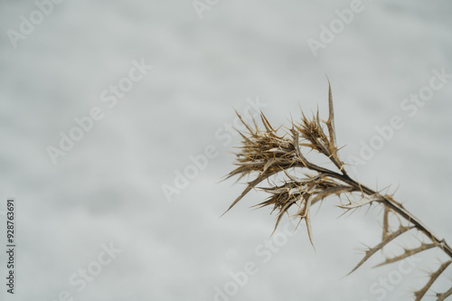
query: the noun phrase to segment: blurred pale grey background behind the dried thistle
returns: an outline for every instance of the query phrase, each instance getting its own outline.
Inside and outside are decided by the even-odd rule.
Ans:
[[[439,252],[401,270],[372,269],[378,255],[344,277],[362,243],[381,238],[377,207],[338,218],[339,201],[327,199],[314,212],[314,250],[303,224],[292,236],[282,221],[270,238],[275,216],[250,209],[263,193],[220,218],[244,184],[219,181],[240,142],[233,108],[262,109],[276,126],[300,118],[299,107],[326,118],[327,74],[340,155],[351,163],[363,145],[379,148],[350,167],[355,177],[399,187],[395,199],[451,241],[451,10],[448,1],[1,2],[2,249],[6,198],[17,216],[16,291],[5,294],[2,251],[1,294],[411,300]],[[403,127],[378,138],[375,127],[394,117]]]

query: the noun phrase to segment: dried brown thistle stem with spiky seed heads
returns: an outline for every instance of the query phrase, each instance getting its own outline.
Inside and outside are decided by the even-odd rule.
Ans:
[[[257,175],[254,180],[248,183],[248,186],[240,196],[231,203],[231,206],[226,212],[249,193],[250,190],[259,188],[268,193],[269,196],[264,202],[260,202],[255,206],[270,206],[273,208],[272,212],[278,212],[275,230],[283,215],[285,213],[288,215],[289,209],[293,207],[296,209],[295,216],[299,218],[299,221],[304,220],[306,222],[307,234],[312,244],[311,207],[315,203],[323,201],[330,195],[344,195],[347,202],[341,202],[338,207],[343,208],[345,212],[356,210],[365,205],[379,204],[383,208],[381,242],[373,248],[368,248],[364,253],[363,259],[349,274],[361,267],[372,255],[382,250],[383,247],[387,246],[401,234],[408,233],[412,230],[419,230],[425,235],[425,240],[427,241],[422,241],[417,248],[404,249],[404,252],[399,256],[386,258],[377,267],[409,258],[426,249],[438,248],[444,251],[450,260],[442,262],[437,270],[429,273],[427,284],[414,292],[413,297],[415,300],[421,300],[435,280],[452,263],[452,249],[447,245],[445,240],[441,240],[434,235],[422,221],[405,209],[400,202],[396,202],[391,194],[374,191],[362,183],[353,180],[346,173],[344,162],[340,160],[337,154],[338,147],[336,145],[334,130],[331,85],[329,85],[328,89],[328,104],[328,120],[321,120],[318,112],[312,118],[306,118],[303,114],[301,122],[295,123],[291,121],[291,127],[287,128],[283,135],[278,134],[280,128],[272,127],[262,113],[260,114],[260,118],[264,128],[260,129],[256,120],[253,119],[253,126],[250,126],[236,112],[242,124],[247,128],[247,131],[239,131],[242,140],[240,152],[236,154],[237,160],[235,165],[237,165],[237,168],[231,171],[226,178],[239,175],[240,180],[245,175]],[[323,127],[323,124],[325,124],[326,128]],[[306,148],[308,151],[315,150],[317,153],[324,155],[329,162],[333,163],[337,170],[335,170],[336,168],[332,170],[315,165],[306,158],[301,148]],[[304,174],[303,178],[300,179],[295,176],[296,168],[302,171]],[[270,183],[269,187],[258,187],[259,183],[265,180],[269,183],[270,177],[280,173],[283,173],[281,174],[283,176],[286,175],[282,184]],[[356,201],[356,197],[358,197],[358,201]],[[390,214],[397,218],[398,227],[396,230],[393,230],[390,226]],[[436,294],[437,300],[445,300],[447,296],[452,296],[452,287],[444,293]]]

